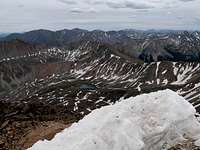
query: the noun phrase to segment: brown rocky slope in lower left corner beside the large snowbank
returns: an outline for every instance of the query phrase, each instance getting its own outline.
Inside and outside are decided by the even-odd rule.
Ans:
[[[53,108],[38,104],[40,108],[34,109],[33,105],[32,108],[25,108],[27,110],[21,104],[0,105],[1,150],[25,150],[38,140],[53,138],[56,133],[79,120],[69,113],[55,114]],[[59,109],[56,110],[59,112]]]

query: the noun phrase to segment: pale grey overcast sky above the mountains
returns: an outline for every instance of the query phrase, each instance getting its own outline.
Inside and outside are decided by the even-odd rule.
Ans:
[[[200,30],[200,0],[0,0],[0,32]]]

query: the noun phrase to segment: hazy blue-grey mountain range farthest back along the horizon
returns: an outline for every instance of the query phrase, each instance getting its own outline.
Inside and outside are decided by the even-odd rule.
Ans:
[[[145,62],[154,61],[200,61],[200,32],[198,31],[87,31],[34,30],[26,33],[10,34],[0,41],[20,39],[30,44],[74,49],[83,42],[100,42],[112,46],[125,55]]]

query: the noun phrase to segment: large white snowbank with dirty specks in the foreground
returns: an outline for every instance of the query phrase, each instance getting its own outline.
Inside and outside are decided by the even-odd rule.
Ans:
[[[94,110],[51,141],[39,141],[28,150],[167,149],[185,138],[200,138],[195,113],[171,90],[143,94]]]

